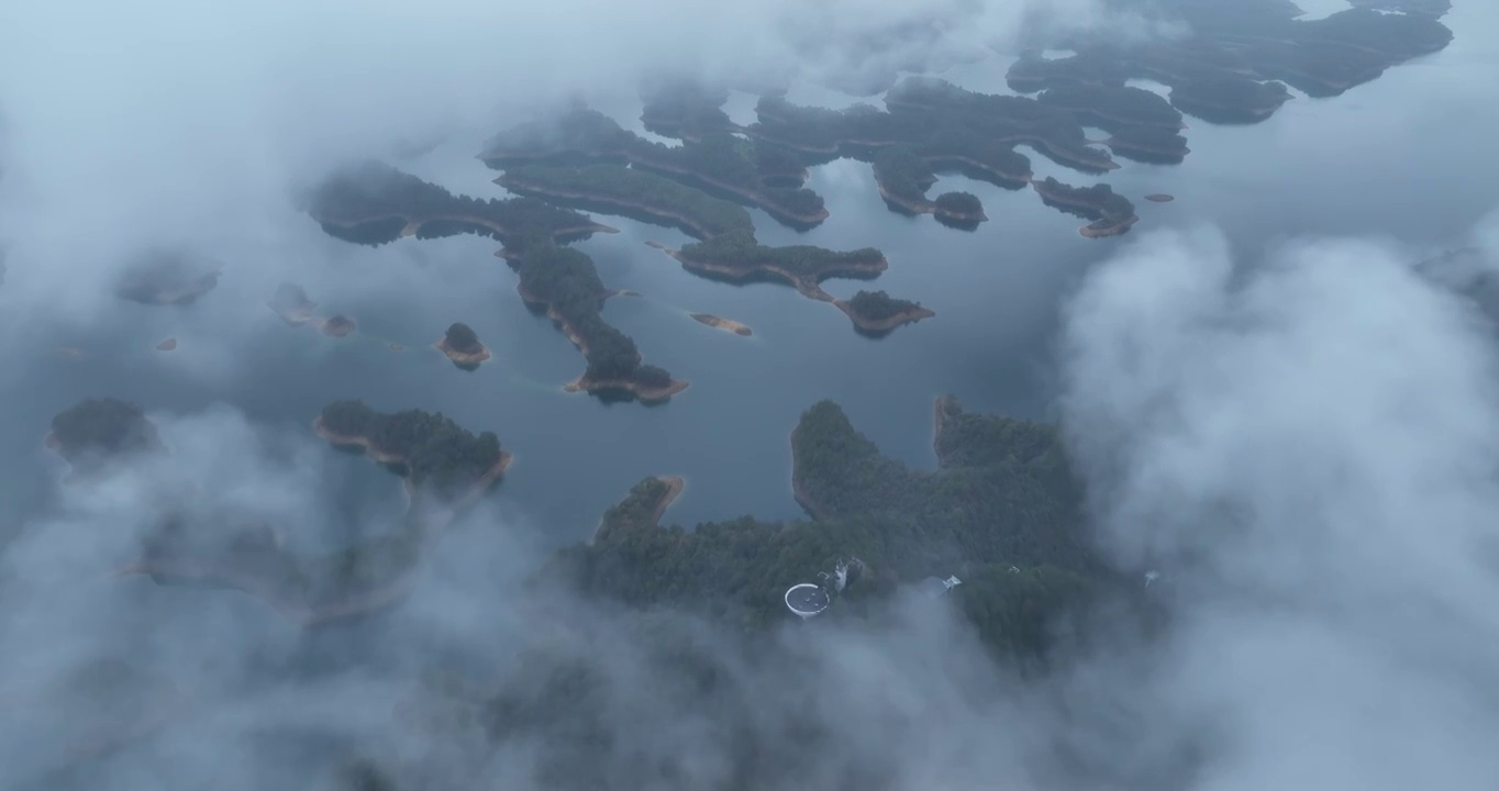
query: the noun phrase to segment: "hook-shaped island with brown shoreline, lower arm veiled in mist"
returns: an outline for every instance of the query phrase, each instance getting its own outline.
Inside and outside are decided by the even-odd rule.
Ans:
[[[340,551],[300,557],[276,529],[204,509],[201,496],[172,503],[138,560],[117,575],[159,584],[202,584],[250,593],[301,625],[363,616],[400,602],[445,527],[510,466],[492,431],[474,434],[441,413],[381,413],[358,400],[334,401],[313,421],[330,443],[363,451],[405,479],[411,502],[400,526]]]

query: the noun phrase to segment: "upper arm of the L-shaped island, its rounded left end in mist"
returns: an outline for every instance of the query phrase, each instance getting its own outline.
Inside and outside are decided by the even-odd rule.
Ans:
[[[538,231],[559,241],[615,232],[585,214],[531,198],[481,201],[453,195],[382,162],[360,162],[333,172],[313,192],[307,213],[328,235],[370,246],[411,235],[480,234],[504,243]]]

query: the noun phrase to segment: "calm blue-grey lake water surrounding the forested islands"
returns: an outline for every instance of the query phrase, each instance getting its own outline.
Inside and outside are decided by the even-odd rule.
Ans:
[[[231,268],[198,304],[130,306],[55,343],[88,351],[84,358],[10,349],[4,364],[24,373],[0,379],[0,443],[18,451],[0,457],[0,497],[22,509],[45,502],[52,470],[39,443],[46,422],[87,396],[112,394],[162,412],[223,401],[256,422],[307,436],[324,403],[360,397],[378,409],[441,410],[471,430],[496,431],[516,454],[496,502],[544,542],[586,536],[634,481],[657,473],[688,478],[670,512],[684,524],[739,514],[797,517],[787,434],[818,398],[839,401],[881,449],[916,466],[932,463],[938,394],[953,393],[979,410],[1048,415],[1060,304],[1088,267],[1141,235],[1213,223],[1250,259],[1306,234],[1376,235],[1415,250],[1463,237],[1499,205],[1495,181],[1480,175],[1493,169],[1499,129],[1484,76],[1495,73],[1495,49],[1465,33],[1465,25],[1484,22],[1480,15],[1493,13],[1460,7],[1448,18],[1459,37],[1447,52],[1394,67],[1342,97],[1298,97],[1252,127],[1189,120],[1184,165],[1124,162],[1105,178],[1136,201],[1142,217],[1121,240],[1079,237],[1078,219],[1043,207],[1028,190],[943,178],[934,193],[974,192],[991,217],[976,232],[958,232],[931,217],[887,211],[868,165],[817,168],[811,186],[832,217],[796,234],[755,211],[760,237],[767,244],[884,250],[890,270],[874,286],[826,285],[839,297],[880,288],[937,312],[881,340],[854,334],[839,312],[788,288],[697,279],[645,246],[687,241],[676,231],[600,217],[622,232],[580,249],[609,286],[645,295],[612,300],[606,318],[636,339],[649,363],[691,382],[658,407],[562,393],[583,360],[546,318],[525,309],[514,274],[492,256],[495,243],[402,240],[372,250],[328,240],[292,217],[304,225],[297,232],[307,252],[297,280],[322,313],[354,316],[357,334],[325,339],[285,327],[264,307],[274,282],[256,274],[253,261],[226,253]],[[1003,90],[1003,70],[995,61],[949,76]],[[495,174],[472,160],[474,150],[472,139],[454,141],[402,166],[457,192],[502,195],[490,184]],[[1039,175],[1093,181],[1033,159]],[[1153,192],[1177,201],[1141,201]],[[745,322],[754,337],[703,327],[691,312]],[[474,327],[493,352],[489,364],[460,372],[429,348],[453,321]],[[180,349],[153,351],[168,336],[178,337]],[[390,343],[405,349],[393,352]],[[327,469],[351,508],[375,491],[384,493],[369,494],[382,497],[375,502],[399,502],[394,478],[375,464],[319,452],[328,454]],[[369,518],[364,512],[354,521]]]

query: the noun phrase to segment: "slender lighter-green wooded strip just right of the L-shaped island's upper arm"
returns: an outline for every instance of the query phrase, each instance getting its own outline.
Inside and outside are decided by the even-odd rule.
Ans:
[[[511,192],[534,193],[556,202],[585,196],[583,202],[604,204],[606,211],[616,214],[630,216],[630,210],[636,208],[648,214],[648,222],[679,225],[697,238],[754,229],[750,213],[738,204],[654,172],[619,165],[526,165],[505,171],[498,181]]]

